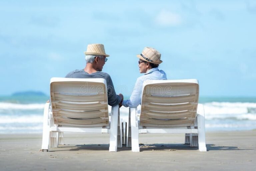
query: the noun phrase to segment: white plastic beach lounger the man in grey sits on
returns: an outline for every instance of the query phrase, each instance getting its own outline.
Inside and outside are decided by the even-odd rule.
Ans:
[[[105,79],[52,78],[50,96],[44,108],[42,151],[63,145],[63,132],[110,133],[109,151],[122,147],[119,106],[108,112]]]

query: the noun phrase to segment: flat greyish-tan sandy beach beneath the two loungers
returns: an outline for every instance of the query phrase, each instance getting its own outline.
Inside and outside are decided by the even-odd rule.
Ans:
[[[41,134],[0,134],[1,171],[256,170],[253,131],[207,132],[207,152],[184,145],[183,134],[140,134],[141,152],[108,152],[108,134],[65,133],[65,145],[40,152]]]

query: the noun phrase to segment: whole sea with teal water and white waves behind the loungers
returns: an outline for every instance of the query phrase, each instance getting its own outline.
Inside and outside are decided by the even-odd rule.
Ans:
[[[48,96],[0,97],[0,133],[42,133],[43,110]],[[256,98],[200,97],[206,131],[256,129]],[[120,114],[128,116],[128,108]]]

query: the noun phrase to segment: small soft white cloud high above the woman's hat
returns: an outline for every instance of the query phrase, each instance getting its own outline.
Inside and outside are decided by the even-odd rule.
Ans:
[[[179,14],[162,10],[156,16],[155,22],[160,26],[178,26],[182,23],[182,19]]]

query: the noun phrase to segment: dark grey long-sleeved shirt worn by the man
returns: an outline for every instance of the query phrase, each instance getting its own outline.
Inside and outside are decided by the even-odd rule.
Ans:
[[[108,91],[108,104],[110,106],[116,106],[121,102],[121,97],[116,95],[114,85],[110,75],[105,72],[97,71],[94,73],[87,73],[84,69],[71,71],[66,75],[66,78],[104,78],[107,82],[107,91]]]

